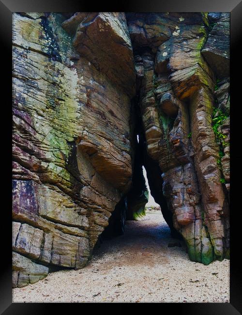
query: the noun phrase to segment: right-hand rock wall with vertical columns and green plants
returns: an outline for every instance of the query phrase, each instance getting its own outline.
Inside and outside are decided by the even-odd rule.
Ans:
[[[173,225],[191,260],[221,260],[229,255],[229,109],[220,108],[229,86],[217,84],[227,82],[229,14],[131,13],[127,21],[147,152]]]

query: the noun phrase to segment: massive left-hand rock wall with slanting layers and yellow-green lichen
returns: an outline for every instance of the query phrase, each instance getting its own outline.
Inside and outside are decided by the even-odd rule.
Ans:
[[[101,14],[75,38],[65,19],[13,15],[14,286],[85,266],[131,185],[135,71],[125,16]]]

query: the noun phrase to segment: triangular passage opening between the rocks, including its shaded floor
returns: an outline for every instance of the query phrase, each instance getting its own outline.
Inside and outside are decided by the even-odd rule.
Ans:
[[[91,261],[109,255],[107,260],[118,259],[113,264],[156,264],[160,260],[167,262],[166,256],[170,251],[186,252],[183,240],[177,237],[174,230],[172,214],[163,201],[162,178],[159,166],[149,168],[143,166],[143,153],[139,136],[136,137],[136,156],[133,172],[133,186],[130,192],[123,196],[116,205],[109,224],[99,236],[99,240],[92,252]],[[148,177],[148,178],[147,178]],[[149,178],[150,177],[150,178]],[[156,177],[159,177],[156,179]],[[149,183],[152,184],[150,189]],[[152,195],[151,195],[152,192]],[[156,201],[159,201],[159,204]],[[163,208],[161,209],[161,206]],[[162,210],[162,211],[161,211]],[[168,219],[168,224],[166,223]],[[173,233],[171,233],[173,232]],[[176,231],[175,231],[176,232]],[[173,249],[172,249],[173,248]],[[111,255],[111,256],[110,256]]]

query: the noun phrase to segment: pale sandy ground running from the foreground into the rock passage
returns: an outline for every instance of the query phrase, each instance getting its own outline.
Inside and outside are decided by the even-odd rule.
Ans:
[[[194,263],[171,242],[161,213],[149,211],[105,240],[88,266],[15,288],[13,302],[229,302],[229,261]]]

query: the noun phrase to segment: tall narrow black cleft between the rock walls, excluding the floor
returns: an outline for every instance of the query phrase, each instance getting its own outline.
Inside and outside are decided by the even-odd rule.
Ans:
[[[141,81],[141,78],[136,79],[137,81]],[[136,220],[137,217],[145,215],[145,205],[148,202],[149,191],[146,187],[143,175],[143,166],[147,172],[151,195],[154,201],[161,207],[162,215],[170,228],[171,236],[182,239],[180,233],[174,228],[172,212],[169,210],[166,198],[163,195],[162,171],[160,170],[158,162],[153,160],[147,152],[139,99],[139,90],[137,89],[136,97],[132,99],[130,121],[133,167],[132,186],[129,192],[123,195],[120,202],[116,205],[109,218],[108,226],[99,236],[96,247],[99,247],[104,239],[123,235],[126,220]],[[169,119],[169,130],[172,129],[175,119],[176,115]]]

